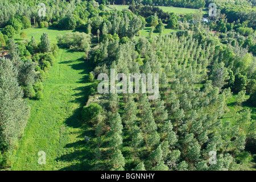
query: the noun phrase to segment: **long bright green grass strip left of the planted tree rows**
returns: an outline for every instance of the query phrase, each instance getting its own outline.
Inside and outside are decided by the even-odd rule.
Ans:
[[[90,169],[92,151],[83,142],[90,128],[82,126],[80,118],[90,85],[90,66],[81,59],[82,52],[59,49],[58,54],[43,82],[44,98],[28,101],[30,119],[13,170]],[[39,151],[46,152],[46,165],[38,164]]]

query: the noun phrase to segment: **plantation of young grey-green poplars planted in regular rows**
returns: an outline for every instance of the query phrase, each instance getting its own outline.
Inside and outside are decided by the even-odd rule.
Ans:
[[[160,97],[109,94],[109,105],[102,105],[104,110],[93,122],[98,137],[95,169],[124,170],[125,162],[134,170],[239,168],[235,158],[245,149],[246,138],[255,134],[255,121],[249,109],[242,110],[235,122],[222,119],[236,88],[233,71],[240,67],[229,65],[233,60],[222,56],[225,50],[218,48],[213,36],[196,39],[205,27],[197,24],[193,31],[140,38],[135,46],[131,41],[101,43],[104,57],[94,69],[96,75],[109,68],[125,74],[159,73]],[[134,61],[139,56],[143,65]],[[242,90],[238,105],[244,97]],[[101,155],[106,150],[107,155]],[[217,165],[209,163],[211,151],[217,152]]]

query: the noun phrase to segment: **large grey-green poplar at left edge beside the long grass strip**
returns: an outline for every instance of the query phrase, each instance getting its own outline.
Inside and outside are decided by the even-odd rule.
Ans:
[[[0,59],[0,148],[13,150],[27,124],[29,109],[9,59]]]

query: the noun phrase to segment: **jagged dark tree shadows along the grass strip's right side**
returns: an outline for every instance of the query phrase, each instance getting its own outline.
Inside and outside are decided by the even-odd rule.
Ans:
[[[75,63],[77,61],[77,63]],[[63,61],[60,64],[70,64],[72,69],[82,70],[79,74],[82,74],[83,77],[77,81],[81,84],[86,84],[85,86],[79,86],[75,88],[77,92],[73,94],[76,97],[75,100],[71,102],[76,102],[80,104],[80,107],[73,111],[73,114],[66,119],[65,125],[72,128],[80,128],[79,135],[77,136],[78,140],[73,143],[68,143],[65,145],[65,148],[73,148],[73,152],[62,155],[59,158],[56,158],[56,161],[69,162],[72,165],[63,167],[60,170],[92,170],[94,167],[94,148],[96,148],[96,142],[94,140],[95,134],[91,123],[82,121],[81,110],[82,107],[86,104],[89,97],[89,90],[91,84],[88,81],[88,73],[92,71],[92,65],[85,61],[78,60]],[[74,64],[72,64],[74,63]],[[88,83],[88,84],[87,84]],[[84,137],[89,137],[89,142],[84,141]]]

